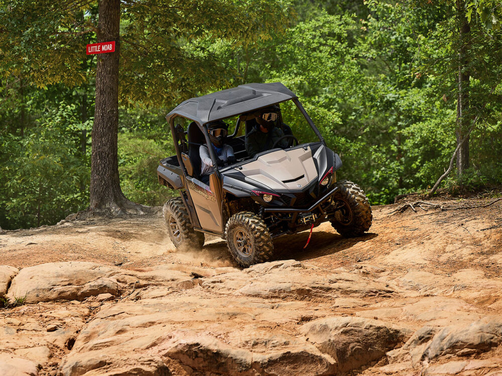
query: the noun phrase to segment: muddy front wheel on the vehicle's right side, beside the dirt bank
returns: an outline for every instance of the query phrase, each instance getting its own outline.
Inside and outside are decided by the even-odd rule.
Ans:
[[[348,180],[340,180],[334,205],[339,209],[330,216],[331,226],[342,236],[352,238],[369,230],[373,215],[371,206],[359,185]]]

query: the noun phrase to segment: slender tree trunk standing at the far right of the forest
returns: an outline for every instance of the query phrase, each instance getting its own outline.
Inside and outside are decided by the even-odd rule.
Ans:
[[[457,145],[461,143],[457,153],[457,176],[461,176],[469,167],[469,136],[464,135],[469,128],[469,80],[468,50],[470,27],[465,17],[463,1],[457,0],[457,16],[459,22],[460,47],[458,52],[458,97],[457,97]],[[464,141],[462,142],[462,139]]]

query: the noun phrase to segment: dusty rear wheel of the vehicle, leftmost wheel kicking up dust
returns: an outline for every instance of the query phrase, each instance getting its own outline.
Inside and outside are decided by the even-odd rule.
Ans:
[[[186,251],[202,248],[204,234],[193,229],[181,198],[176,197],[165,203],[162,213],[169,237],[177,249]]]

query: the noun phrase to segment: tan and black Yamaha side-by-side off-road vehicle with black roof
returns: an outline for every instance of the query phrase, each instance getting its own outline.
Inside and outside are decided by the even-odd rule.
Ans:
[[[286,102],[286,103],[283,103]],[[292,102],[292,103],[291,103]],[[296,111],[293,130],[283,122],[279,110],[277,126],[283,129],[288,147],[275,142],[269,150],[249,157],[245,149],[248,133],[257,126],[260,109],[280,104]],[[342,162],[328,147],[298,97],[281,83],[247,84],[191,98],[167,116],[176,155],[162,159],[157,168],[159,182],[180,197],[164,205],[164,220],[177,248],[200,249],[204,233],[226,239],[228,249],[241,266],[272,258],[272,240],[330,221],[345,237],[354,237],[371,226],[371,207],[357,184],[336,181]],[[236,161],[218,166],[207,124],[235,122],[225,142],[232,146]],[[312,129],[311,142],[299,143],[298,122]],[[187,124],[186,129],[179,123]],[[302,133],[302,134],[303,134]],[[239,135],[240,134],[240,135]],[[308,135],[302,138],[307,138]],[[214,172],[209,185],[200,181],[199,148],[206,145]]]

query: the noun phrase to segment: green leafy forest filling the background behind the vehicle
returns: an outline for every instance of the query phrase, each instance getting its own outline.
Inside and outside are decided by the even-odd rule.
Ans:
[[[245,9],[234,11],[237,3]],[[55,38],[46,26],[59,13],[48,4],[0,1],[3,229],[55,224],[89,206],[97,57],[85,44],[96,41],[98,4],[58,4],[73,24],[57,26],[68,38],[51,56],[57,74],[39,58]],[[502,184],[499,2],[138,4],[120,8],[118,123],[120,185],[136,203],[159,206],[176,195],[156,177],[159,160],[174,154],[165,115],[192,96],[249,82],[293,90],[340,154],[337,178],[360,184],[372,205],[430,189],[459,144],[441,190]],[[128,40],[137,29],[148,43]],[[289,125],[307,141],[307,129]]]

